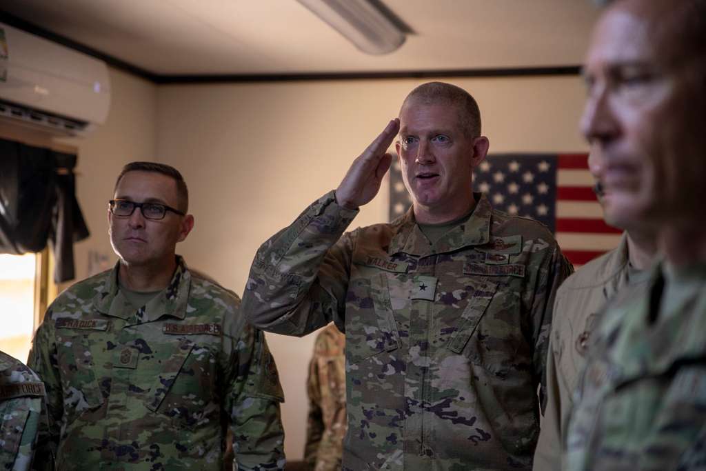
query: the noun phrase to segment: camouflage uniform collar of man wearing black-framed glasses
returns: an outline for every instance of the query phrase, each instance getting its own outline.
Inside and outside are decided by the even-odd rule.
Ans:
[[[101,314],[128,319],[136,315],[135,307],[128,302],[119,290],[118,261],[109,273],[104,288],[95,297],[95,306]],[[140,316],[140,322],[155,321],[162,316],[172,316],[183,319],[186,316],[186,304],[191,290],[191,273],[186,268],[184,258],[177,255],[177,270],[169,285],[145,305]]]

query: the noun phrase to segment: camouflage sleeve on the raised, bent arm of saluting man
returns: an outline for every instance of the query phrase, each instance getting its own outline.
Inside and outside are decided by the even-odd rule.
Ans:
[[[243,296],[254,326],[301,336],[343,325],[353,244],[341,236],[357,213],[330,191],[258,249]]]

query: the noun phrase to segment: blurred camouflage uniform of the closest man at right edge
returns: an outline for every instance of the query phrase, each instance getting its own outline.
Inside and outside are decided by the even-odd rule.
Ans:
[[[568,470],[706,470],[706,266],[616,295],[594,331]]]

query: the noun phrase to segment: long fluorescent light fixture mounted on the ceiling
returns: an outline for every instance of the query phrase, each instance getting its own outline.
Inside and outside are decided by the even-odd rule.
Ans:
[[[366,54],[388,54],[405,32],[370,0],[297,0]]]

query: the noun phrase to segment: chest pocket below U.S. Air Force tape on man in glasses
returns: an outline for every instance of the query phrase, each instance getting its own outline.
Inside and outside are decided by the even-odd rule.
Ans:
[[[217,401],[213,384],[215,365],[207,347],[181,338],[161,345],[160,371],[150,388],[146,407],[172,419],[178,428],[193,429],[203,422],[215,420]]]

